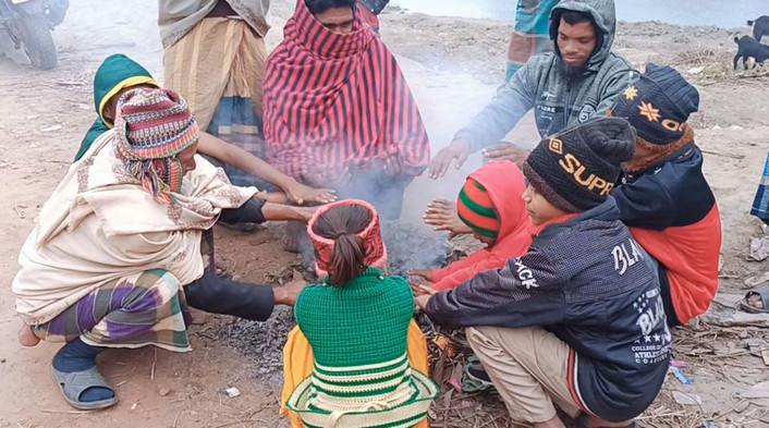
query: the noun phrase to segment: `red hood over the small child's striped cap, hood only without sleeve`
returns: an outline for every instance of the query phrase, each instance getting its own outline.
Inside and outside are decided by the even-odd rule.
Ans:
[[[495,246],[501,241],[528,235],[529,219],[523,201],[526,181],[518,167],[508,160],[491,161],[468,178],[486,188],[499,217],[499,235]]]

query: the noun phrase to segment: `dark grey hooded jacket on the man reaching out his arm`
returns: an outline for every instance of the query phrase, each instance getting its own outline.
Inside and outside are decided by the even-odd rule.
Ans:
[[[558,52],[554,35],[564,11],[589,13],[601,32],[600,46],[583,69],[570,70]],[[532,57],[455,138],[468,140],[472,151],[496,145],[532,109],[542,138],[606,115],[614,99],[638,77],[627,61],[611,52],[615,28],[613,0],[562,0],[550,14],[556,52]]]

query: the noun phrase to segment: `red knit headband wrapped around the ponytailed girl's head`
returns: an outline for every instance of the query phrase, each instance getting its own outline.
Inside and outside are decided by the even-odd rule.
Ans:
[[[370,204],[364,200],[345,199],[320,207],[307,224],[307,233],[309,234],[309,240],[313,242],[313,246],[316,252],[315,270],[320,278],[325,278],[328,274],[329,269],[331,269],[330,262],[333,255],[333,246],[335,241],[320,236],[315,233],[313,228],[324,213],[332,210],[333,208],[347,205],[362,206],[368,209],[371,213],[371,222],[357,234],[366,247],[364,265],[366,265],[367,268],[379,269],[384,268],[384,265],[387,265],[387,248],[384,248],[384,243],[382,241],[381,227],[379,225],[379,213]]]

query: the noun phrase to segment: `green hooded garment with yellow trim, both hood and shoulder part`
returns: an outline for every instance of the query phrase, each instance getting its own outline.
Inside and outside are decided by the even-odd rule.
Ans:
[[[94,108],[99,117],[85,134],[81,148],[75,155],[75,162],[88,151],[88,148],[99,135],[112,127],[112,122],[103,117],[103,108],[107,101],[121,89],[142,84],[160,86],[145,68],[122,53],[107,57],[105,62],[99,65],[99,70],[96,71],[94,76]]]

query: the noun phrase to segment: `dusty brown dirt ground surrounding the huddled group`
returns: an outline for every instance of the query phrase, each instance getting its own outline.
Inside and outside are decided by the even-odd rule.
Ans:
[[[268,45],[279,42],[281,24],[292,0],[273,1],[273,29]],[[93,74],[101,60],[126,53],[162,75],[162,50],[156,26],[156,2],[72,2],[66,22],[54,33],[60,63],[38,72],[17,54],[0,56],[0,428],[5,427],[274,427],[279,384],[255,374],[258,355],[244,355],[217,339],[232,319],[199,316],[192,329],[194,352],[176,355],[162,350],[108,351],[99,366],[115,387],[120,403],[100,413],[73,411],[50,378],[50,359],[58,346],[22,348],[15,341],[11,281],[16,256],[41,204],[66,171],[95,119]],[[444,146],[490,97],[504,68],[510,24],[479,20],[439,19],[388,11],[382,37],[399,56],[422,109],[434,151]],[[748,28],[735,32],[749,34]],[[715,27],[682,27],[660,23],[620,24],[617,50],[634,65],[651,61],[672,64],[698,86],[700,112],[692,123],[705,151],[705,171],[716,193],[723,221],[723,278],[713,316],[675,332],[675,360],[694,384],[670,376],[655,406],[640,423],[651,427],[769,426],[769,391],[749,391],[769,380],[769,370],[755,355],[769,339],[766,320],[750,326],[724,321],[745,280],[769,270],[747,258],[749,240],[760,235],[760,222],[748,211],[767,157],[769,77],[766,69],[731,70],[734,32]],[[0,41],[2,47],[2,41]],[[536,143],[530,118],[511,138]],[[417,180],[408,189],[405,221],[417,223],[432,197],[454,197],[465,174],[478,167],[474,158],[443,181]],[[280,224],[254,234],[217,229],[220,262],[241,280],[261,282],[296,261],[282,250]],[[748,345],[753,344],[750,348]],[[280,346],[279,343],[276,346]],[[235,387],[241,395],[221,393]],[[681,405],[681,393],[697,395]],[[443,425],[445,426],[445,425]],[[491,425],[489,425],[491,426]],[[497,423],[493,424],[497,426]]]

